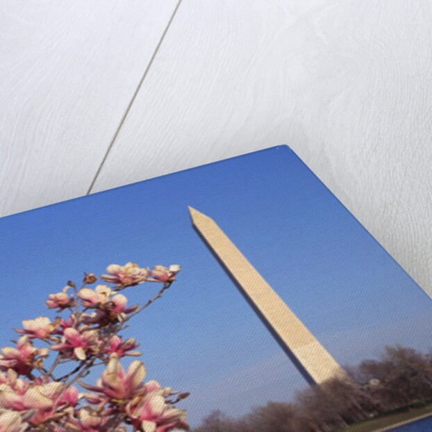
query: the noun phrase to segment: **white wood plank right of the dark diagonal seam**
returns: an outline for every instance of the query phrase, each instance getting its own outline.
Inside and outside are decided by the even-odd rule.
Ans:
[[[94,191],[289,144],[432,294],[431,25],[427,0],[183,0]]]

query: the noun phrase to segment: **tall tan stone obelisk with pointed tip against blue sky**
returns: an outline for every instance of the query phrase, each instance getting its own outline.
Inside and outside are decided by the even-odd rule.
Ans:
[[[195,228],[310,384],[347,378],[344,369],[288,308],[216,222],[189,207]]]

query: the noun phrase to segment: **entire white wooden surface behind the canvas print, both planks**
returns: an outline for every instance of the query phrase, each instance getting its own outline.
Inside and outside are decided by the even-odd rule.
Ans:
[[[94,3],[81,4],[87,24],[74,32],[83,16],[69,17],[63,3],[51,3],[56,18],[33,30],[33,14],[3,8],[0,24],[16,23],[8,31],[0,25],[1,46],[17,26],[22,38],[2,48],[0,63],[0,149],[8,154],[0,162],[1,213],[289,144],[432,294],[429,0],[181,0],[139,88],[157,44],[140,46],[140,19],[151,21],[153,41],[174,13],[173,3],[160,3],[152,17],[138,18],[140,3],[111,3],[97,32],[83,13]],[[165,13],[156,13],[160,25],[157,8]],[[72,32],[89,53],[69,50],[61,67],[58,47],[47,70],[38,52],[61,31],[60,45]],[[99,49],[117,62],[103,83],[89,78],[102,78],[112,63],[92,65]],[[65,150],[72,144],[77,150]]]

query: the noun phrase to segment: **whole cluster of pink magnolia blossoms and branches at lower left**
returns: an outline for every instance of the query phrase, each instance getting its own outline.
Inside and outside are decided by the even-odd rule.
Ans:
[[[59,313],[69,309],[67,316],[52,322],[48,317],[26,319],[22,329],[15,329],[22,333],[15,346],[1,349],[0,432],[188,429],[185,413],[173,405],[176,402],[171,399],[176,393],[171,388],[162,388],[156,381],[145,383],[146,370],[138,360],[126,370],[119,363],[124,356],[141,354],[136,351],[139,345],[135,338],[123,340],[118,335],[124,322],[161,297],[159,293],[139,308],[128,306],[119,291],[144,281],[162,282],[167,287],[180,266],[156,265],[150,272],[127,263],[110,265],[107,270],[108,275],[101,279],[115,283],[115,287],[83,287],[72,296],[67,291],[74,288],[76,292],[76,285],[68,281],[62,292],[49,294],[45,301]],[[84,274],[84,284],[96,281],[94,274]],[[35,347],[37,339],[49,349]],[[44,367],[44,358],[53,351],[58,351],[57,358]],[[92,367],[103,363],[108,364],[95,385],[81,382]],[[76,382],[90,392],[78,392],[72,385]],[[176,401],[185,395],[178,395]]]

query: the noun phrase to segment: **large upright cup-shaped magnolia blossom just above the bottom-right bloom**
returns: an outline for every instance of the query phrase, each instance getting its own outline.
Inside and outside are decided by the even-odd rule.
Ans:
[[[146,374],[144,365],[139,360],[134,360],[124,371],[117,356],[112,356],[106,369],[96,385],[81,385],[94,392],[101,393],[108,398],[116,400],[127,400],[133,398],[140,390],[145,392],[142,380]]]

